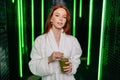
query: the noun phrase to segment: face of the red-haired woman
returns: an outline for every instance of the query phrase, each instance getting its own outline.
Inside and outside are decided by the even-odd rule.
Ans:
[[[51,17],[52,27],[56,29],[62,29],[66,23],[66,10],[63,8],[58,8],[53,12]]]

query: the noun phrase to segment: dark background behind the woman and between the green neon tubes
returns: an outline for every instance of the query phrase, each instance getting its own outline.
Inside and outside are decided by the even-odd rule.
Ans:
[[[22,54],[23,76],[19,74],[19,40],[18,40],[18,0],[0,0],[0,80],[38,80],[28,68],[31,51],[31,0],[21,0],[23,6],[24,48]],[[74,0],[44,0],[44,22],[52,6],[57,3],[68,7],[71,14],[71,34],[73,28]],[[81,65],[75,74],[76,80],[98,80],[100,34],[102,6],[104,0],[93,0],[91,64],[87,65],[89,3],[82,0],[82,17],[79,17],[79,3],[76,0],[76,37],[83,54]],[[102,77],[100,80],[120,80],[120,0],[106,0],[104,21]],[[34,38],[41,34],[41,0],[34,0]]]

